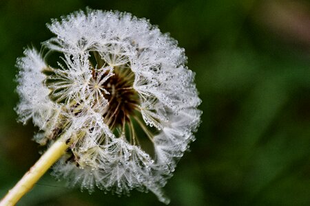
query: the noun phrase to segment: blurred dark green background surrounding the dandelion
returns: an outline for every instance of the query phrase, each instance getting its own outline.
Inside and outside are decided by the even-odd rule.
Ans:
[[[150,19],[184,47],[202,123],[165,187],[170,205],[310,205],[310,1],[0,1],[0,195],[39,158],[17,124],[16,58],[86,6]],[[161,205],[71,190],[50,174],[18,205]]]

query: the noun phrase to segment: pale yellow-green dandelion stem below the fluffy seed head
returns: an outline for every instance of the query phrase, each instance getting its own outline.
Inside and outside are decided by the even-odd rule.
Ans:
[[[65,153],[70,144],[65,143],[65,139],[59,138],[40,157],[32,168],[21,178],[21,180],[6,194],[0,201],[0,206],[15,205],[19,199],[32,189],[41,176]]]

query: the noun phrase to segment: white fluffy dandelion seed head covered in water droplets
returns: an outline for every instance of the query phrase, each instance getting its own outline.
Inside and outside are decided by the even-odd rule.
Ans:
[[[56,37],[45,57],[25,49],[17,60],[17,113],[39,127],[39,144],[70,142],[54,175],[90,191],[151,190],[168,203],[161,187],[201,113],[184,49],[122,12],[75,12],[48,28]]]

